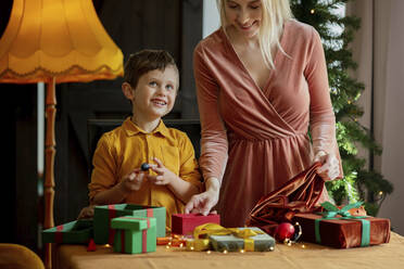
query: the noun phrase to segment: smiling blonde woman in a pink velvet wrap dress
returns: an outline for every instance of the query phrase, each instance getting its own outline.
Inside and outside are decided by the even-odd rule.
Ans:
[[[242,227],[263,195],[314,162],[325,180],[342,169],[317,31],[292,18],[288,0],[217,5],[222,27],[193,55],[206,191],[186,212],[218,202],[223,225]]]

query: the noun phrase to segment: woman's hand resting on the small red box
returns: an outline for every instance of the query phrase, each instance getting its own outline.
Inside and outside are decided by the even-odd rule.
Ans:
[[[209,178],[205,181],[206,191],[195,194],[187,203],[185,213],[200,213],[204,216],[210,214],[212,208],[217,204],[219,196],[219,182],[216,178]]]

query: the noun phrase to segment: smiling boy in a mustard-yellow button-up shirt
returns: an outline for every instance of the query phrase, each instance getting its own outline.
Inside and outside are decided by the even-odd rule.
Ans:
[[[171,227],[171,215],[182,213],[201,189],[191,141],[161,119],[174,106],[178,69],[168,52],[142,50],[130,55],[124,80],[122,90],[131,102],[132,116],[98,142],[90,204],[164,206]],[[143,163],[149,163],[149,171],[140,169]]]

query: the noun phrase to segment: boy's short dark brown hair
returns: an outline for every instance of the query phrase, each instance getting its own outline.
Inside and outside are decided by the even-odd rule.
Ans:
[[[141,50],[129,55],[125,64],[124,80],[136,88],[142,75],[155,69],[164,71],[167,66],[173,66],[178,76],[175,60],[167,51]]]

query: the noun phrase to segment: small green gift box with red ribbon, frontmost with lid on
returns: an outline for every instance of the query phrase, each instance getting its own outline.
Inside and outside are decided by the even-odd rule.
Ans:
[[[155,218],[119,217],[111,220],[111,227],[116,230],[114,252],[128,254],[155,252]]]

